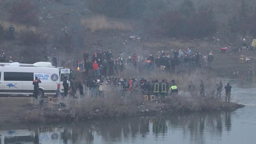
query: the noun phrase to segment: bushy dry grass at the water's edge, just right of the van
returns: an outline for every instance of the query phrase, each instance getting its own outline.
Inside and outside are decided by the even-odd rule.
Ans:
[[[123,117],[134,115],[136,106],[139,102],[137,98],[131,98],[122,94],[121,89],[104,86],[104,97],[100,95],[94,98],[85,89],[84,98],[77,95],[76,100],[65,99],[67,108],[72,116],[77,120]],[[78,93],[78,91],[77,91]]]

